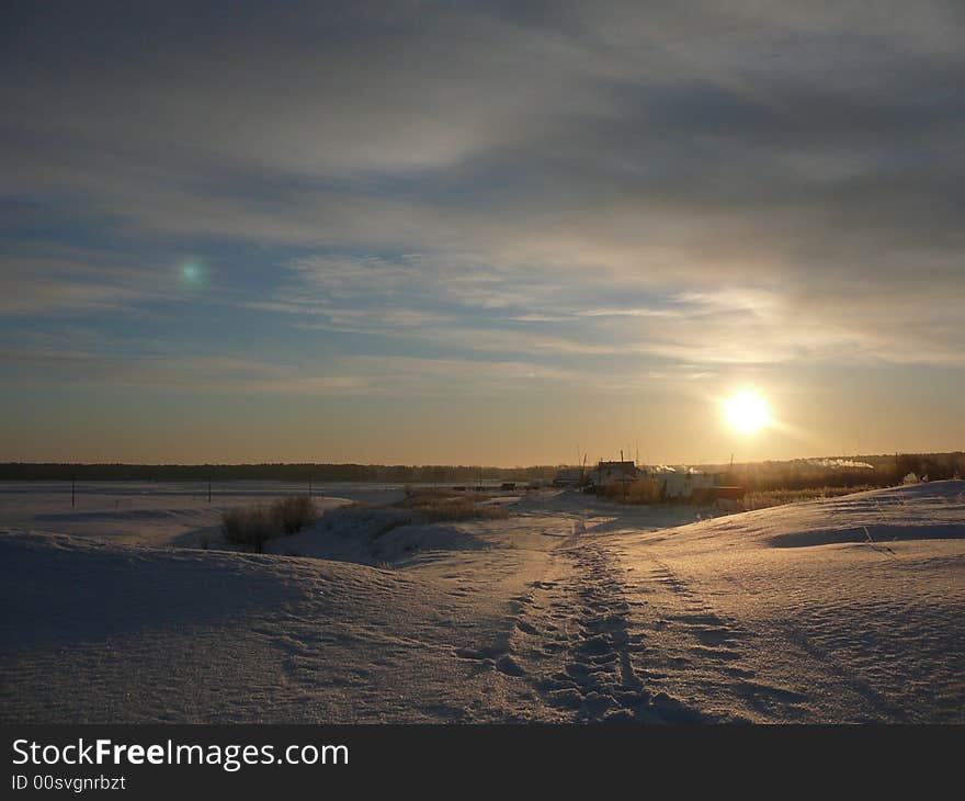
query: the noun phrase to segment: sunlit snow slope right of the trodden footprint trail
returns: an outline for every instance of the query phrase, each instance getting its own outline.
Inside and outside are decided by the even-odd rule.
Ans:
[[[963,722],[965,483],[623,537],[651,686],[720,719]]]

